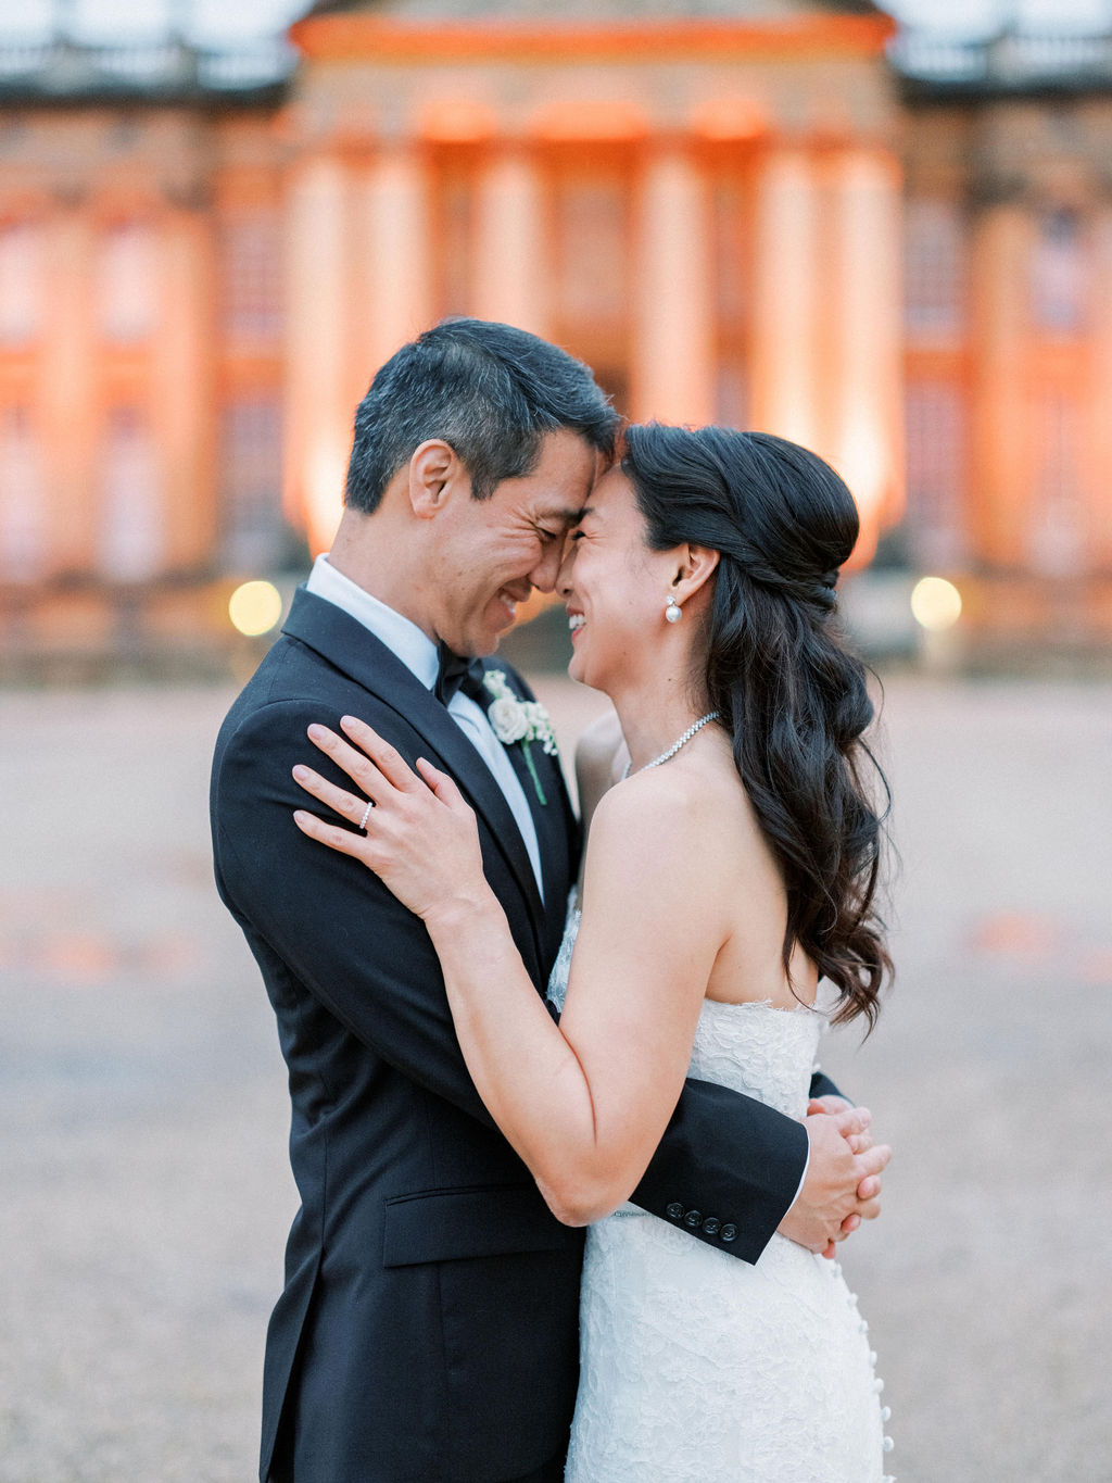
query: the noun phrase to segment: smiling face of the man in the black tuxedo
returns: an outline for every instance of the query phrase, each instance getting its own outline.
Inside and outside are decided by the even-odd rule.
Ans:
[[[532,473],[504,479],[489,500],[470,489],[440,547],[436,636],[457,654],[492,654],[534,587],[553,592],[563,538],[578,519],[599,455],[578,433],[547,433]]]

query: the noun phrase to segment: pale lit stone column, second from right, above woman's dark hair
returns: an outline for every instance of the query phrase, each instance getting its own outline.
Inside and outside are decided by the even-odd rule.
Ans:
[[[820,443],[820,199],[802,148],[758,169],[753,222],[753,427]]]

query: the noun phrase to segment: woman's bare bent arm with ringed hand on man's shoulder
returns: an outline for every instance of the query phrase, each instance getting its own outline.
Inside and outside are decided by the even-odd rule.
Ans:
[[[589,909],[555,1025],[482,875],[455,785],[427,764],[420,782],[369,728],[345,730],[371,762],[331,733],[323,749],[375,801],[369,833],[308,814],[297,816],[299,828],[363,860],[424,919],[491,1115],[560,1221],[598,1219],[632,1194],[660,1143],[722,940],[691,808],[652,773],[599,804]],[[308,770],[295,776],[344,817],[362,816],[362,799]]]

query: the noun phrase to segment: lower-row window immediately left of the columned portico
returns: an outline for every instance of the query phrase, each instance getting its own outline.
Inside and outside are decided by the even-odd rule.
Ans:
[[[224,565],[234,572],[273,571],[289,556],[282,513],[282,408],[259,393],[224,408],[221,439]]]

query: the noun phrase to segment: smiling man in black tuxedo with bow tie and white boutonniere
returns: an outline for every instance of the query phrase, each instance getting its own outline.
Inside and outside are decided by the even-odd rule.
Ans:
[[[307,728],[351,713],[451,771],[544,991],[578,826],[556,759],[504,746],[480,703],[483,673],[528,697],[520,679],[455,655],[489,655],[514,605],[553,590],[615,433],[587,368],[523,331],[452,320],[399,350],[356,414],[332,552],[221,730],[216,882],[277,1016],[301,1194],[267,1336],[264,1483],[562,1477],[583,1232],[479,1100],[423,924],[298,832],[291,768],[326,767]],[[876,1210],[884,1160],[851,1151],[860,1130],[692,1081],[633,1198],[741,1261],[778,1225],[821,1247]]]

